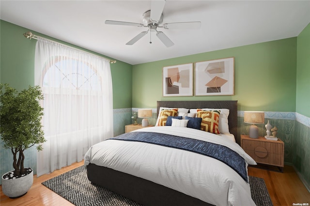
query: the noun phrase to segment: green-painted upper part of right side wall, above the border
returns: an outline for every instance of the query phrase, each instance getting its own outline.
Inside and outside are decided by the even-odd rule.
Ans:
[[[296,112],[310,117],[310,24],[297,37]]]

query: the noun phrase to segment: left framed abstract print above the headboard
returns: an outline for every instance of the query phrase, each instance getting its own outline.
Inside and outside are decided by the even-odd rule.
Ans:
[[[193,63],[163,67],[163,96],[193,96]]]

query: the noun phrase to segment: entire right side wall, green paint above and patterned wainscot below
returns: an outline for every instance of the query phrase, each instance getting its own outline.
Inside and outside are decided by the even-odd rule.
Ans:
[[[306,182],[310,190],[310,24],[297,37],[296,70],[296,113],[308,117],[308,125],[300,123],[306,119],[305,117],[297,116],[293,164],[299,177]]]

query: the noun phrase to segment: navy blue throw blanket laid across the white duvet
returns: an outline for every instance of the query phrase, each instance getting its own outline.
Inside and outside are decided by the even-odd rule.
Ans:
[[[248,182],[245,160],[232,149],[222,145],[157,132],[129,132],[110,139],[150,143],[212,157],[233,168]]]

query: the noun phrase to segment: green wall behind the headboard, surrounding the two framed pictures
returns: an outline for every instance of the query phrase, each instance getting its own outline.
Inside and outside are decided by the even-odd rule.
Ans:
[[[238,110],[294,112],[296,42],[294,37],[133,65],[132,105],[155,108],[158,100],[237,100]],[[234,95],[162,96],[163,67],[229,57],[235,58]]]

